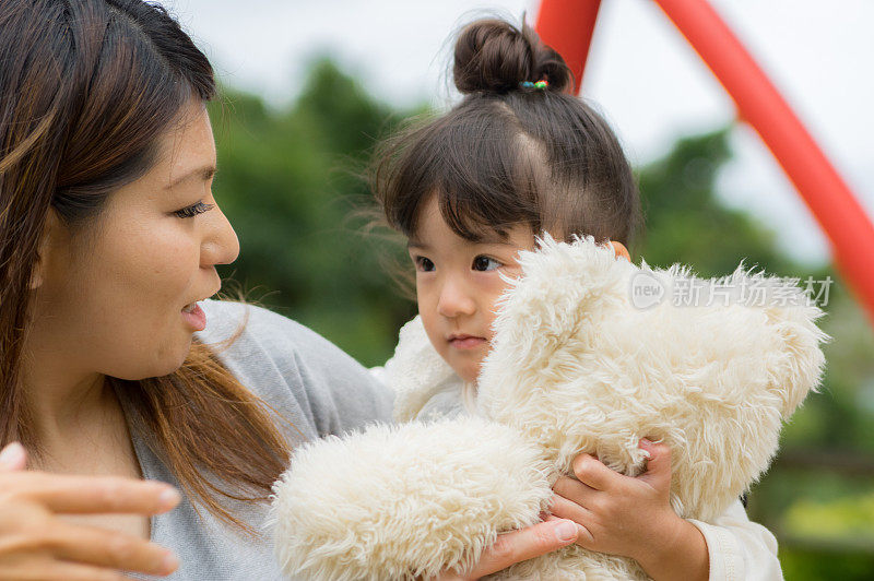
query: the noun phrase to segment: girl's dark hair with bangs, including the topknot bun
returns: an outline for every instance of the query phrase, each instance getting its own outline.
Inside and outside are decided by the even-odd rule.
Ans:
[[[606,121],[569,93],[562,57],[527,25],[480,20],[459,34],[454,82],[464,98],[377,150],[373,188],[389,225],[413,236],[424,202],[459,236],[524,224],[557,238],[629,246],[637,185]],[[521,83],[545,80],[546,88]]]

